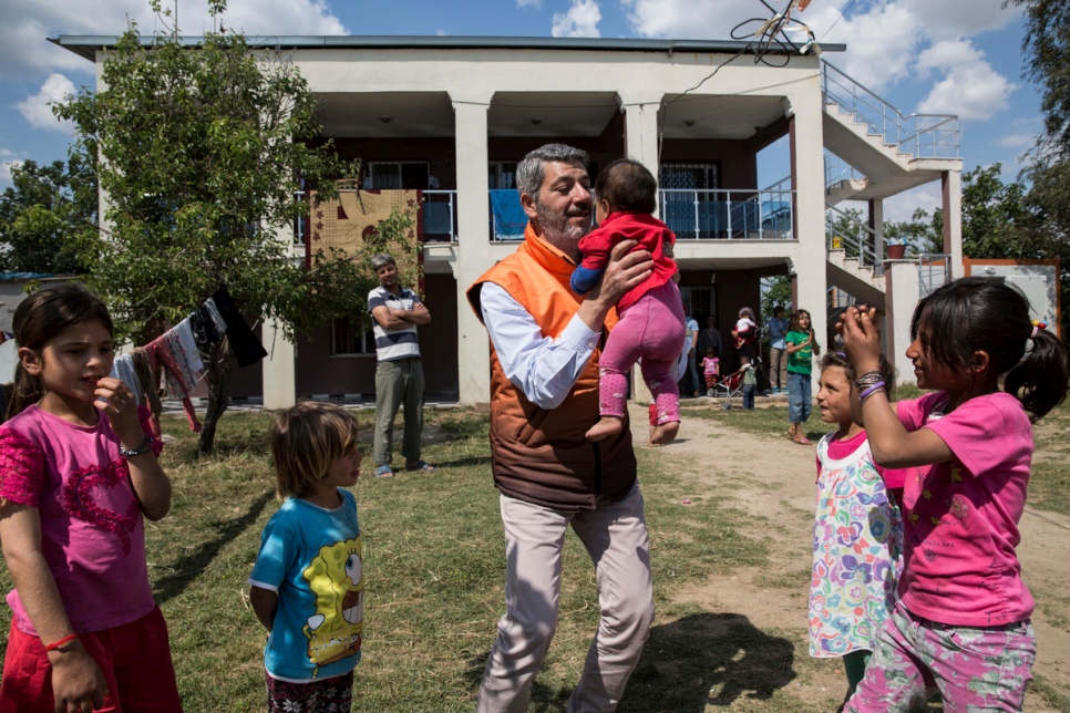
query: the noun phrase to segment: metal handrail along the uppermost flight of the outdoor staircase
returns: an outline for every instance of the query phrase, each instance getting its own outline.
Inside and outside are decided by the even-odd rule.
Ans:
[[[904,114],[843,70],[822,61],[821,90],[825,103],[835,103],[866,124],[871,134],[914,158],[958,158],[958,116]]]

